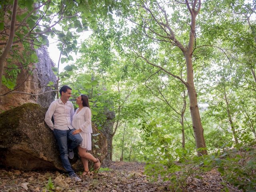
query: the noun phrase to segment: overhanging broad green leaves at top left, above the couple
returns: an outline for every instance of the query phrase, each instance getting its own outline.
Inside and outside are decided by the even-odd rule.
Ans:
[[[104,17],[109,11],[112,12],[115,8],[118,8],[116,4],[119,4],[119,2],[112,0],[80,1],[76,3],[74,1],[60,2],[53,0],[42,1],[41,4],[34,3],[36,3],[34,0],[18,1],[20,12],[16,16],[16,20],[20,25],[16,26],[14,42],[21,42],[23,46],[29,42],[35,49],[38,49],[41,46],[49,45],[48,36],[58,39],[59,43],[57,47],[63,55],[60,61],[62,64],[74,60],[70,53],[77,53],[78,51],[77,38],[79,36],[77,32],[88,30],[88,26],[93,30],[97,30],[98,22],[104,20]],[[12,1],[4,1],[1,6],[7,8],[0,9],[2,18],[7,19],[4,22],[0,20],[0,31],[2,43],[4,44],[7,42],[9,36],[9,34],[6,34],[4,31],[4,23],[10,23]],[[102,10],[104,10],[104,12],[102,12]],[[19,54],[19,56],[21,55],[22,54]],[[17,59],[17,55],[12,53],[10,57],[12,60]],[[32,63],[38,62],[38,58],[32,54],[30,61]],[[28,61],[28,63],[30,63],[30,61]],[[72,69],[74,68],[72,67]],[[61,74],[56,74],[62,78],[70,77],[71,68],[66,67],[66,71],[67,72]],[[6,81],[5,84],[7,85]],[[96,84],[96,81],[93,82],[93,85]],[[8,86],[12,87],[10,83]]]

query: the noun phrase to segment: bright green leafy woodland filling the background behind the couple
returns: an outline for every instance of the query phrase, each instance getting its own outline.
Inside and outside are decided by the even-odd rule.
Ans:
[[[146,162],[173,190],[216,168],[256,191],[255,9],[255,0],[1,1],[0,96],[15,94],[18,74],[32,74],[36,49],[54,38],[57,82],[45,86],[87,94],[99,130],[115,113],[110,160]]]

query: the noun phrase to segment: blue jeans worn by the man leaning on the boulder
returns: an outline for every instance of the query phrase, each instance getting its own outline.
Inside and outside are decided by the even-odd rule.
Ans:
[[[72,135],[75,129],[69,130],[58,130],[54,129],[54,135],[59,145],[60,159],[65,170],[68,172],[68,175],[74,174],[74,170],[71,167],[71,164],[68,160],[68,149],[76,148],[81,142],[82,137],[80,134]]]

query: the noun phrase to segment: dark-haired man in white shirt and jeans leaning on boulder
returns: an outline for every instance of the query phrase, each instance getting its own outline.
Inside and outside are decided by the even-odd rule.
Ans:
[[[82,142],[80,134],[72,135],[75,129],[71,125],[74,115],[74,106],[69,101],[71,93],[72,89],[69,86],[64,85],[60,88],[60,98],[50,104],[44,121],[53,130],[55,138],[58,141],[63,167],[71,179],[80,182],[81,179],[75,174],[68,160],[68,157],[70,159],[74,157],[73,149]],[[52,117],[54,123],[52,122]]]

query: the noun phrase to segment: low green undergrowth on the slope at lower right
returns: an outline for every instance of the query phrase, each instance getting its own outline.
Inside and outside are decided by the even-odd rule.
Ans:
[[[224,180],[222,191],[228,191],[227,184],[232,184],[246,192],[256,192],[256,148],[254,146],[238,147],[201,157],[188,151],[176,150],[175,155],[147,158],[145,173],[152,180],[161,178],[170,181],[169,190],[182,192],[194,180],[201,179],[202,174],[216,169]],[[178,158],[178,161],[177,161]]]

